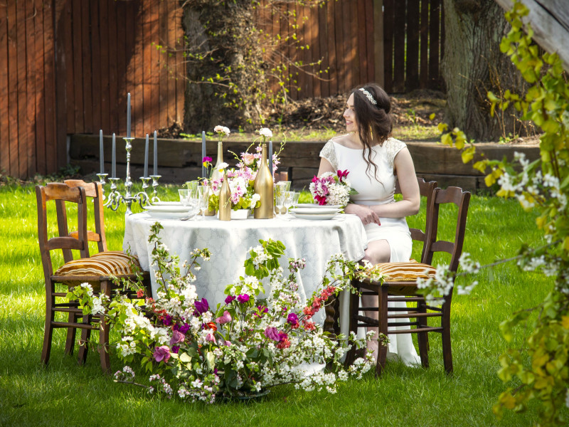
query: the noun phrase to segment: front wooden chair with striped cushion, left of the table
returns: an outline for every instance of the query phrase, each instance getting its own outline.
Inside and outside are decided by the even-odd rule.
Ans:
[[[137,275],[132,270],[132,264],[136,263],[131,256],[125,253],[98,253],[89,256],[87,239],[87,196],[83,187],[70,187],[66,184],[51,183],[46,186],[36,186],[36,198],[38,203],[38,240],[43,264],[43,273],[46,280],[46,327],[44,331],[43,349],[41,360],[48,364],[51,351],[53,330],[55,328],[67,328],[68,339],[65,344],[67,352],[73,352],[75,330],[99,330],[99,352],[103,371],[110,371],[108,343],[109,325],[102,315],[83,315],[78,309],[76,301],[65,299],[67,292],[58,292],[55,285],[61,284],[68,287],[90,283],[97,295],[110,296],[113,288],[112,277],[136,280]],[[54,201],[55,211],[58,213],[58,236],[48,238],[48,202]],[[67,231],[67,212],[65,203],[77,205],[77,231],[71,236]],[[54,272],[52,260],[53,251],[61,250],[64,256],[64,264]],[[71,251],[79,251],[80,258],[73,259]],[[63,299],[63,301],[62,301]],[[68,321],[55,320],[56,312],[67,312]],[[80,322],[81,320],[81,322]],[[73,334],[70,333],[73,330]],[[87,335],[88,338],[88,335]],[[79,362],[85,363],[87,346],[85,342],[80,345]]]

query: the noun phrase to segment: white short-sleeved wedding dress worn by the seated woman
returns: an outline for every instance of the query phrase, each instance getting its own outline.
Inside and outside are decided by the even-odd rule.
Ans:
[[[358,194],[351,196],[351,201],[362,205],[380,205],[394,203],[395,175],[393,160],[405,146],[398,139],[389,138],[383,145],[371,148],[371,161],[377,165],[376,178],[373,178],[373,166],[366,172],[367,164],[363,160],[363,149],[344,147],[334,138],[324,145],[320,157],[328,160],[335,170],[348,170],[347,176],[353,189]],[[364,153],[366,158],[368,152]],[[386,240],[390,247],[390,262],[408,261],[411,256],[412,241],[405,218],[379,218],[381,226],[371,223],[364,228],[371,241]],[[405,307],[405,302],[389,302],[389,307]],[[402,320],[405,321],[405,320]],[[409,327],[395,327],[405,329]],[[420,358],[413,345],[410,334],[389,335],[388,359],[398,358],[405,364],[419,364]]]

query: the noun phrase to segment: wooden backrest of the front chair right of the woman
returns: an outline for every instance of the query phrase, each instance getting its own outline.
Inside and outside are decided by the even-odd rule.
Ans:
[[[427,230],[425,260],[422,261],[423,263],[432,264],[432,258],[435,253],[446,252],[450,254],[450,270],[453,272],[457,271],[459,258],[462,254],[462,246],[464,244],[470,196],[469,191],[462,191],[461,188],[455,186],[450,186],[444,190],[435,190],[432,203],[430,206],[427,206],[427,212],[430,211],[430,226]],[[454,204],[458,209],[454,241],[452,242],[437,240],[440,206],[443,204]]]

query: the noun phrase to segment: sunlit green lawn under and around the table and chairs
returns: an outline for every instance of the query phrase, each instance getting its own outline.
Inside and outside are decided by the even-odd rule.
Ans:
[[[176,199],[176,188],[160,187],[159,195]],[[248,404],[188,404],[115,384],[101,374],[95,354],[79,367],[63,354],[63,330],[54,332],[50,364],[42,366],[45,291],[33,186],[0,187],[0,212],[0,426],[531,426],[537,420],[536,406],[503,420],[491,406],[505,388],[496,371],[508,345],[498,325],[543,300],[553,286],[543,275],[500,265],[479,275],[472,295],[454,295],[454,376],[444,374],[440,338],[433,336],[429,369],[390,363],[381,379],[369,373],[334,395],[283,386]],[[110,249],[120,249],[124,208],[105,214]],[[422,215],[408,219],[410,226],[422,221]],[[514,201],[472,198],[464,251],[491,263],[515,255],[523,241],[541,243],[532,214]],[[519,347],[528,331],[517,332],[512,345]],[[123,366],[114,353],[111,362]]]

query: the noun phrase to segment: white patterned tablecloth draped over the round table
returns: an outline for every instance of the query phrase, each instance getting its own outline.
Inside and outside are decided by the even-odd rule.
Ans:
[[[160,221],[164,226],[159,235],[162,243],[171,253],[180,257],[181,263],[188,260],[194,249],[208,248],[212,253],[211,259],[201,262],[195,284],[198,295],[206,297],[210,306],[216,307],[218,302],[225,300],[225,287],[240,275],[245,275],[243,262],[248,258],[248,249],[257,246],[260,239],[266,241],[272,238],[286,246],[285,256],[280,259],[285,274],[288,258],[306,258],[307,265],[299,278],[299,294],[307,298],[319,287],[326,261],[331,255],[344,253],[349,260],[363,258],[366,232],[360,219],[353,215],[339,215],[336,218],[328,221],[297,218],[290,221],[281,218],[219,221],[210,216],[205,221],[180,221],[156,220],[149,214],[134,214],[126,220],[123,248],[130,248],[131,253],[138,256],[141,267],[150,270],[154,296],[156,278],[149,266],[152,247],[148,238],[150,226],[155,221]],[[347,298],[341,308],[347,310]],[[324,313],[318,314],[320,316],[315,320],[323,322]],[[346,330],[345,325],[342,326],[341,329]]]

